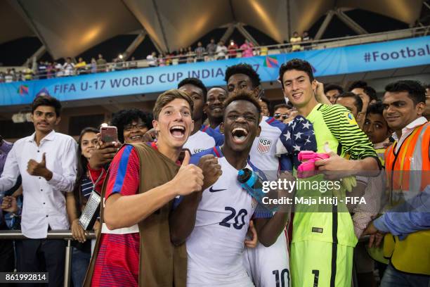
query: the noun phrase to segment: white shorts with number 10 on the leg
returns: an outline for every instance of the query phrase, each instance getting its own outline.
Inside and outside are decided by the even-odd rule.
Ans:
[[[289,252],[287,231],[269,247],[258,243],[256,248],[245,248],[244,264],[256,287],[289,287]]]

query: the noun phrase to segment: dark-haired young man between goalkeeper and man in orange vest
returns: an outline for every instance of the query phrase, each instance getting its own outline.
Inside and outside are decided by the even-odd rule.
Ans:
[[[384,153],[392,131],[384,119],[383,112],[384,106],[382,102],[377,101],[376,103],[371,103],[367,107],[363,132],[365,132],[370,141],[372,141],[373,148],[377,152],[382,166],[385,166]]]

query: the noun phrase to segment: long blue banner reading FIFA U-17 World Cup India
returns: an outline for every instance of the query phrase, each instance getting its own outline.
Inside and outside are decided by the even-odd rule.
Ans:
[[[251,58],[2,83],[0,106],[31,103],[41,92],[55,96],[60,101],[162,92],[176,87],[185,77],[200,78],[207,87],[219,86],[226,84],[226,68],[237,63],[252,65],[261,80],[269,82],[278,79],[280,65],[292,58],[308,60],[316,77],[427,65],[430,64],[430,36]]]

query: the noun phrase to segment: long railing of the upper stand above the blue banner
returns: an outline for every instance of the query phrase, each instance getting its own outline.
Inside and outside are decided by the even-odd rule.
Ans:
[[[284,44],[273,44],[268,46],[254,46],[252,47],[252,51],[254,56],[260,56],[261,51],[264,52],[265,55],[275,55],[279,53],[289,53],[292,51],[293,46],[299,46],[299,50],[318,50],[318,49],[328,49],[339,46],[351,46],[357,44],[366,44],[366,43],[375,43],[375,42],[385,42],[394,39],[405,39],[411,37],[422,37],[429,34],[430,26],[423,27],[414,27],[405,30],[394,30],[390,32],[379,32],[373,34],[362,34],[356,36],[348,36],[348,37],[337,37],[331,39],[320,39],[320,40],[310,40],[310,41],[302,41],[295,43],[284,43]],[[185,53],[177,56],[164,56],[162,58],[157,58],[155,62],[157,65],[155,66],[164,66],[164,65],[179,65],[185,63],[195,63],[197,61],[210,61],[210,60],[224,60],[231,58],[232,55],[230,51],[235,53],[234,58],[242,57],[242,49],[234,49],[225,51],[225,56],[219,56],[219,54],[214,53],[213,55],[209,55],[209,53],[204,52],[202,56],[198,56],[195,51],[190,51],[190,53]],[[54,78],[54,77],[65,77],[65,76],[74,76],[74,75],[85,75],[91,74],[94,72],[112,72],[117,70],[127,70],[134,68],[148,68],[153,67],[154,65],[150,65],[150,61],[146,59],[141,60],[129,60],[124,61],[121,59],[116,59],[117,61],[111,63],[105,63],[103,65],[91,65],[86,64],[82,65],[79,68],[73,68],[69,70],[63,70],[62,68],[52,67],[51,70],[45,72],[37,72],[33,69],[33,74],[31,79],[46,79],[46,78]],[[162,64],[160,64],[162,63]],[[59,66],[58,66],[59,67]],[[7,67],[1,67],[0,72],[4,72]],[[16,68],[15,68],[16,71]],[[22,71],[21,71],[22,72]],[[19,74],[19,72],[15,72],[15,74]],[[25,75],[19,76],[15,75],[15,79],[17,80],[26,80]],[[27,80],[31,80],[28,78]]]

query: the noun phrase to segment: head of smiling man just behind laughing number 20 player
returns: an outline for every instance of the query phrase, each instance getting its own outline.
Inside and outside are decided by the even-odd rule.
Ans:
[[[227,91],[222,87],[212,87],[207,91],[207,101],[204,105],[204,113],[209,119],[209,127],[219,132],[219,125],[223,121],[224,106]]]

